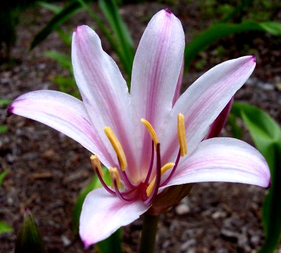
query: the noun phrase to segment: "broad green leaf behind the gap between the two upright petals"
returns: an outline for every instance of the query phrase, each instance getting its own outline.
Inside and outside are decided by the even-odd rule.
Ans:
[[[131,77],[135,50],[129,29],[119,13],[115,0],[99,0],[98,5],[118,40],[122,54],[121,60],[125,64],[127,74]]]

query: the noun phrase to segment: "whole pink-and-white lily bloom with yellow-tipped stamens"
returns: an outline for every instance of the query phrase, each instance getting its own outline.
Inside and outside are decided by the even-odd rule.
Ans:
[[[168,186],[206,181],[270,184],[264,157],[249,144],[233,138],[203,140],[251,75],[255,57],[213,67],[174,99],[184,40],[173,13],[156,13],[136,51],[129,93],[98,35],[78,26],[72,64],[83,102],[58,91],[35,91],[8,109],[8,114],[51,126],[94,154],[91,162],[103,187],[90,192],[83,204],[80,236],[85,246],[139,218]],[[111,186],[103,181],[100,163],[109,168]]]

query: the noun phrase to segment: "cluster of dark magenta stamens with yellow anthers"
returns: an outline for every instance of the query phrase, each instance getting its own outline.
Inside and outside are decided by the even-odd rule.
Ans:
[[[147,171],[146,178],[143,182],[139,183],[138,185],[134,185],[130,182],[130,179],[126,174],[126,168],[128,166],[128,163],[125,152],[122,148],[121,143],[119,142],[119,140],[117,139],[114,132],[109,126],[104,127],[104,133],[110,141],[111,145],[113,146],[119,161],[119,167],[109,168],[111,187],[107,186],[103,180],[103,173],[98,157],[96,155],[91,155],[90,160],[102,186],[110,194],[119,197],[122,201],[125,202],[133,202],[140,198],[144,202],[144,204],[150,206],[158,193],[159,187],[166,185],[167,182],[170,181],[170,179],[174,175],[176,168],[179,164],[180,157],[187,154],[185,120],[184,115],[179,113],[178,138],[180,148],[176,161],[167,162],[163,166],[161,166],[160,144],[158,142],[157,135],[152,125],[146,119],[142,118],[141,122],[144,124],[152,140],[150,165]],[[156,151],[156,173],[154,178],[151,178],[152,169],[154,165],[154,150]],[[171,168],[172,170],[170,170]],[[161,176],[168,170],[170,170],[170,174],[168,174],[166,179],[161,182]]]

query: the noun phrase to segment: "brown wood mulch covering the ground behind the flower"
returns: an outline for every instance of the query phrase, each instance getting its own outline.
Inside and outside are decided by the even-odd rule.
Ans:
[[[186,2],[189,1],[179,1],[171,10],[181,19],[188,42],[196,29],[207,27],[209,22],[204,22],[198,6]],[[151,16],[164,7],[159,3],[143,3],[121,8],[135,45]],[[280,18],[280,10],[277,14]],[[34,34],[50,17],[50,12],[39,8],[22,13],[18,41],[12,50],[19,63],[9,68],[1,66],[1,98],[15,99],[40,89],[57,90],[50,79],[59,74],[68,75],[57,63],[43,56],[44,51],[51,49],[70,53],[56,33],[32,52],[28,51]],[[71,31],[79,24],[95,27],[87,14],[80,13],[64,29]],[[102,36],[101,40],[104,50],[113,54]],[[253,32],[223,39],[220,44],[227,49],[223,56],[217,57],[215,53],[220,44],[202,53],[197,61],[206,58],[204,68],[198,71],[193,64],[191,73],[184,78],[184,86],[215,64],[255,50],[256,70],[236,99],[259,106],[281,123],[279,43],[279,38]],[[114,54],[113,57],[116,58]],[[1,109],[0,124],[7,124],[9,131],[0,136],[0,172],[7,168],[11,172],[0,188],[0,221],[6,221],[14,232],[0,236],[0,251],[13,252],[24,209],[29,207],[47,252],[91,252],[84,250],[79,236],[73,234],[71,221],[77,195],[93,174],[89,152],[43,124],[16,115],[6,118],[5,114],[6,109]],[[222,136],[230,136],[229,133],[226,126]],[[249,135],[245,135],[245,140],[251,142]],[[265,194],[265,189],[250,185],[196,184],[188,197],[161,216],[155,252],[256,252],[263,241],[260,218]],[[139,219],[124,228],[126,252],[137,252],[141,227]]]

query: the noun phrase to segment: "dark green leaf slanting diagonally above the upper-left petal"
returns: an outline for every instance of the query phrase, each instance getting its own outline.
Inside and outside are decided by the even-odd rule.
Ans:
[[[80,3],[72,1],[63,10],[55,14],[47,25],[40,30],[34,37],[30,49],[36,47],[42,40],[44,40],[53,30],[57,29],[63,22],[68,20],[71,16],[82,9]]]

